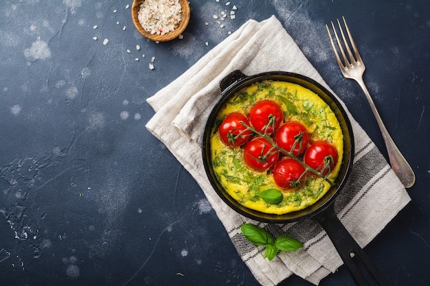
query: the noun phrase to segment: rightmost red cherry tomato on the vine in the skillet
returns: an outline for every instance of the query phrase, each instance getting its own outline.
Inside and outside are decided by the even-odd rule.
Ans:
[[[315,141],[304,152],[304,163],[324,176],[335,167],[337,158],[335,146],[325,141]]]

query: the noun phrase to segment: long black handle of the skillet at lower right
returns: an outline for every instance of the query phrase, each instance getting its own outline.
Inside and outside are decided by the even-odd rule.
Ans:
[[[348,267],[356,285],[389,285],[376,265],[372,263],[370,257],[365,254],[357,241],[352,238],[348,230],[337,218],[333,206],[328,207],[323,213],[317,215],[315,219],[326,230],[328,237],[330,237],[337,252],[339,252],[343,263]],[[354,257],[352,257],[352,254],[354,254]],[[359,263],[361,263],[362,267],[359,267]]]

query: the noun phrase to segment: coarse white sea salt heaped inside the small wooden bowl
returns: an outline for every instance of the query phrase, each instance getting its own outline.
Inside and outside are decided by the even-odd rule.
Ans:
[[[182,8],[179,0],[145,0],[139,7],[139,23],[151,34],[172,32],[181,22]]]

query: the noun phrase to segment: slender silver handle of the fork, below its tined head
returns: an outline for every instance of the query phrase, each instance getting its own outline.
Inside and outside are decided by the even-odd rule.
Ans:
[[[376,118],[376,122],[378,123],[379,129],[381,130],[381,134],[383,136],[385,146],[387,147],[389,163],[391,163],[391,167],[394,173],[398,176],[398,178],[400,179],[400,182],[402,182],[405,188],[412,187],[415,183],[414,171],[412,170],[411,166],[409,166],[409,164],[407,163],[407,160],[402,155],[402,153],[400,153],[400,150],[398,150],[398,147],[394,143],[391,136],[389,136],[387,128],[385,128],[385,125],[381,119],[381,116],[379,115],[379,112],[376,109],[376,106],[373,102],[372,97],[370,97],[369,91],[367,91],[367,87],[365,86],[363,79],[360,78],[359,80],[357,80],[357,82],[361,87],[361,89],[363,89],[363,92],[367,98],[367,102],[369,102],[370,108],[372,109],[372,112]]]

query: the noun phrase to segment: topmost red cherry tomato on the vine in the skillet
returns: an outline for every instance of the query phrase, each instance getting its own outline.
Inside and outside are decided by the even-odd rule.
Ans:
[[[284,112],[276,102],[271,100],[257,102],[249,110],[249,121],[258,132],[273,133],[278,130],[283,119]]]

